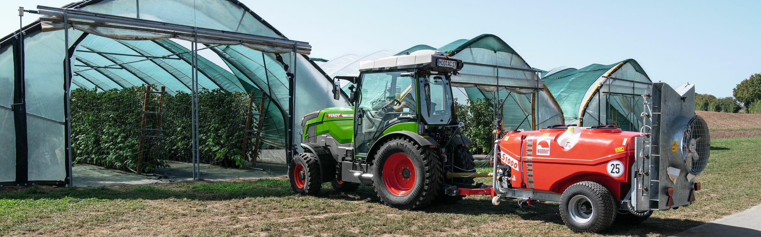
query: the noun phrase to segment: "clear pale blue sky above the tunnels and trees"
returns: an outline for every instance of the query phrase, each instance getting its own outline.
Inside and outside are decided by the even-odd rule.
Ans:
[[[16,29],[19,6],[68,2],[3,1],[0,34]],[[736,84],[761,73],[761,1],[241,2],[291,40],[309,42],[318,58],[440,47],[491,33],[535,68],[634,58],[653,81],[689,82],[715,96],[731,96]]]

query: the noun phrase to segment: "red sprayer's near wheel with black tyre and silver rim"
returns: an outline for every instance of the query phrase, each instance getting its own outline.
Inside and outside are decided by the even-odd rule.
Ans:
[[[596,182],[578,182],[563,191],[560,217],[574,232],[600,232],[616,220],[613,195]]]

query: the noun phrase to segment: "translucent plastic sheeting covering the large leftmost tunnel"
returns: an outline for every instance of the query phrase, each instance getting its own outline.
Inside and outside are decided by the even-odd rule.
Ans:
[[[137,4],[139,2],[139,9]],[[253,14],[248,8],[234,0],[210,0],[205,1],[202,7],[194,6],[193,2],[181,0],[94,0],[76,2],[68,5],[79,11],[95,12],[99,14],[112,14],[119,17],[134,17],[150,21],[160,21],[182,26],[196,26],[216,30],[217,33],[235,36],[236,33],[244,33],[251,39],[266,36],[272,42],[293,42],[287,40],[277,30]],[[166,11],[172,9],[172,11]],[[53,10],[49,11],[52,12]],[[85,12],[86,13],[86,12]],[[70,15],[70,16],[73,16]],[[65,51],[62,19],[56,16],[48,17],[50,20],[45,31],[40,28],[27,26],[27,34],[24,36],[26,43],[26,98],[27,98],[27,141],[29,151],[30,181],[64,181],[66,178],[65,163],[65,114],[64,114],[64,74],[62,62]],[[72,20],[71,18],[69,20]],[[81,19],[80,19],[81,20]],[[85,21],[79,21],[85,22]],[[96,21],[93,21],[97,23]],[[37,23],[40,24],[40,23]],[[78,43],[74,56],[71,58],[72,88],[97,87],[100,90],[111,88],[132,87],[140,84],[165,85],[167,91],[189,91],[191,81],[190,53],[170,56],[170,58],[152,58],[142,62],[133,62],[142,57],[130,55],[164,56],[177,52],[186,52],[188,49],[167,39],[166,35],[150,36],[150,28],[136,27],[134,29],[117,29],[106,27],[104,24],[74,24],[75,27],[68,29],[69,43]],[[53,30],[53,31],[48,31]],[[81,42],[78,39],[85,30],[91,35],[86,36]],[[130,31],[132,30],[132,31]],[[98,36],[100,34],[100,36]],[[132,37],[129,35],[132,34]],[[107,36],[107,37],[103,37]],[[135,37],[137,36],[137,37]],[[192,36],[192,35],[191,35]],[[13,112],[10,104],[12,98],[12,83],[14,80],[12,68],[12,50],[7,41],[12,36],[6,36],[0,48],[0,132],[2,132],[2,148],[0,148],[0,182],[12,182],[15,180],[15,150]],[[111,38],[108,38],[111,37]],[[191,40],[186,35],[172,34],[171,38]],[[151,40],[148,40],[150,38]],[[260,37],[262,38],[262,37]],[[121,40],[119,40],[121,39]],[[274,40],[272,40],[274,39]],[[301,100],[295,104],[295,112],[292,114],[300,118],[316,108],[346,106],[345,100],[333,100],[330,94],[332,81],[326,78],[319,69],[314,68],[304,55],[291,58],[291,48],[277,47],[273,45],[259,45],[253,41],[244,43],[230,42],[229,40],[215,40],[213,37],[201,36],[199,43],[209,44],[235,44],[219,46],[217,53],[220,55],[221,64],[226,64],[231,71],[227,71],[215,62],[199,57],[197,68],[199,70],[199,86],[206,89],[221,88],[224,90],[243,90],[246,92],[266,91],[271,93],[268,100],[269,121],[265,122],[263,141],[279,147],[286,147],[286,126],[288,118],[288,77],[285,67],[295,68],[296,100],[300,96],[309,96],[311,100]],[[299,53],[307,54],[304,43],[298,49]],[[256,50],[260,51],[256,51]],[[288,49],[288,50],[283,50]],[[86,51],[86,52],[83,52]],[[266,51],[263,53],[261,51]],[[113,55],[109,52],[128,54]],[[271,52],[282,53],[282,60]],[[287,52],[287,53],[284,53]],[[263,58],[263,59],[257,59]],[[7,63],[11,60],[11,63]],[[293,63],[295,61],[295,64]],[[116,65],[131,62],[123,65]],[[81,65],[81,66],[76,66]],[[233,67],[233,65],[237,66]],[[263,67],[266,65],[267,70]],[[91,69],[90,66],[109,66],[109,68]],[[11,68],[8,68],[11,67]],[[295,119],[298,121],[298,119]],[[291,128],[298,136],[295,125]],[[299,139],[295,139],[295,144]],[[7,169],[7,170],[6,170]]]

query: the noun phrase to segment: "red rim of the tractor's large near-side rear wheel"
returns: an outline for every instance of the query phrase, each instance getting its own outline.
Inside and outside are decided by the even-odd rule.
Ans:
[[[415,174],[412,160],[403,153],[393,153],[383,165],[383,181],[388,191],[396,196],[404,196],[412,190]]]

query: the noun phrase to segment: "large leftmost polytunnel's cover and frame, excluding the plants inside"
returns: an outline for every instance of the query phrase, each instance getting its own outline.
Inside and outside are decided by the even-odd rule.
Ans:
[[[286,157],[300,142],[295,118],[348,105],[333,100],[333,82],[307,57],[308,43],[288,40],[236,0],[90,0],[33,13],[39,21],[0,39],[0,185],[72,184],[70,96],[78,88],[154,85],[192,95],[194,163],[206,135],[198,115],[213,109],[199,106],[201,91],[265,96],[256,139]]]

